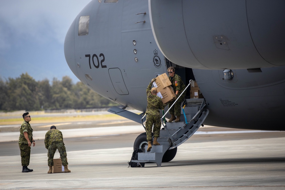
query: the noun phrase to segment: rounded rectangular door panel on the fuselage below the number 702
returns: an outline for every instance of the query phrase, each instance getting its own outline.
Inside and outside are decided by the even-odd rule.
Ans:
[[[108,72],[115,91],[119,95],[128,95],[129,92],[125,85],[121,70],[119,68],[111,68]]]

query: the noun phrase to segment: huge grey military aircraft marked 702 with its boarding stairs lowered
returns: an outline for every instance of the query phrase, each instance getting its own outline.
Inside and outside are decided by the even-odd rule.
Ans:
[[[109,112],[141,123],[152,78],[173,66],[186,86],[197,81],[204,98],[187,89],[181,126],[163,122],[167,162],[203,124],[285,130],[284,8],[284,0],[92,0],[71,24],[64,54],[78,79],[123,107]],[[160,166],[162,156],[139,160]]]

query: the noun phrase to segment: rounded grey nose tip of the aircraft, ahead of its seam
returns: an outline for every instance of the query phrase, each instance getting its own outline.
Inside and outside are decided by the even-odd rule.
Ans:
[[[64,56],[65,60],[70,68],[70,70],[76,75],[78,79],[80,79],[75,62],[75,44],[74,44],[74,29],[75,29],[76,19],[73,21],[71,26],[69,27],[65,40],[64,40]]]

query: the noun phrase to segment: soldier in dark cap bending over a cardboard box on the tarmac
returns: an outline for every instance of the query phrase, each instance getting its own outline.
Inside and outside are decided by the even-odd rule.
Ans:
[[[64,166],[64,173],[70,172],[67,167],[67,154],[63,143],[62,132],[60,130],[57,130],[56,126],[51,126],[50,130],[46,132],[46,136],[44,138],[44,145],[46,149],[48,149],[48,166],[50,167],[48,173],[52,173],[52,166],[54,165],[53,157],[54,153],[56,152],[56,149],[58,149],[58,152],[60,154],[61,162]]]

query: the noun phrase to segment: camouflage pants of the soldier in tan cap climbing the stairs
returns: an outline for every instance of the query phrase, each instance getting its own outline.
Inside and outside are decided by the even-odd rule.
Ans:
[[[152,116],[150,114],[146,115],[146,122],[145,122],[145,128],[146,128],[146,140],[147,141],[152,141],[152,125],[153,126],[153,136],[154,137],[159,137],[160,133],[160,127],[161,127],[161,120],[159,116]]]

